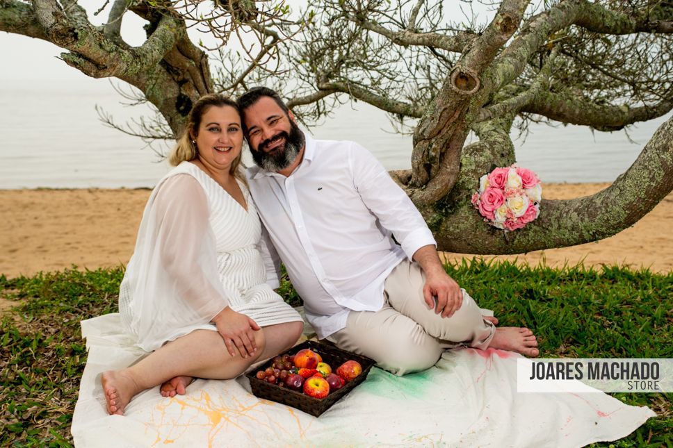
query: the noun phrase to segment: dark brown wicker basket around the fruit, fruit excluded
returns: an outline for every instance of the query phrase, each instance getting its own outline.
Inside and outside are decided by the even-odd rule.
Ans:
[[[257,367],[257,369],[251,370],[245,374],[245,376],[247,376],[250,380],[250,388],[252,389],[254,396],[271,401],[277,401],[278,403],[292,406],[293,408],[303,410],[307,414],[319,417],[322,413],[325,412],[325,410],[332,407],[336,401],[339,401],[342,397],[348,394],[348,392],[353,390],[355,386],[357,386],[359,383],[362,383],[362,381],[366,379],[369,370],[374,365],[374,361],[366,358],[365,356],[360,356],[351,353],[350,351],[341,350],[332,344],[327,344],[325,342],[315,342],[312,340],[307,340],[306,342],[302,342],[300,345],[292,347],[288,351],[282,353],[281,356],[284,354],[295,354],[302,349],[311,349],[320,354],[323,357],[323,362],[331,365],[334,370],[336,370],[336,367],[339,367],[339,365],[345,363],[347,360],[356,360],[358,363],[360,363],[360,365],[362,365],[362,373],[356,376],[354,380],[346,383],[343,388],[330,393],[330,395],[327,395],[327,397],[323,399],[317,399],[314,397],[309,397],[308,395],[304,395],[302,392],[280,387],[277,384],[271,384],[261,379],[257,379],[257,376],[255,376],[256,372],[258,370],[264,370],[266,367],[270,367],[272,364],[273,361],[269,360],[269,362],[263,366]]]

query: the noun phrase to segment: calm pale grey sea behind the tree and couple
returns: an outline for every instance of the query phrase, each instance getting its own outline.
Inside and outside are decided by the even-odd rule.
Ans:
[[[152,187],[168,164],[142,140],[107,128],[95,106],[116,122],[147,113],[120,104],[106,80],[11,81],[0,86],[0,188]],[[670,116],[670,115],[669,115]],[[624,132],[536,125],[515,140],[519,165],[543,182],[612,181],[629,167],[665,118]],[[342,106],[311,129],[316,138],[355,140],[388,169],[410,167],[412,138],[392,131],[384,113],[365,103]]]

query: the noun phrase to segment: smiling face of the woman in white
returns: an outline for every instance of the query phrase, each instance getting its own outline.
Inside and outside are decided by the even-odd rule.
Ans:
[[[241,116],[232,106],[211,106],[201,117],[196,146],[204,165],[229,171],[234,159],[241,154],[243,131]]]

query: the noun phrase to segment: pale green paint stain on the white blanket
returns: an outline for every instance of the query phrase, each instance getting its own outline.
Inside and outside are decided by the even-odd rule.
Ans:
[[[380,397],[389,398],[422,398],[432,390],[432,372],[436,367],[415,374],[396,376],[378,367],[373,367],[366,381],[360,387]]]

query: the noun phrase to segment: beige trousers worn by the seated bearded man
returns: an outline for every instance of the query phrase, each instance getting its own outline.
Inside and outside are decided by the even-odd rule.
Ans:
[[[463,303],[443,318],[423,300],[425,274],[404,260],[386,279],[386,302],[379,311],[351,311],[346,328],[330,336],[342,349],[368,356],[396,375],[431,367],[444,349],[469,345],[484,349],[495,333],[472,297],[462,290]]]

